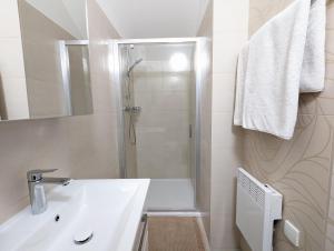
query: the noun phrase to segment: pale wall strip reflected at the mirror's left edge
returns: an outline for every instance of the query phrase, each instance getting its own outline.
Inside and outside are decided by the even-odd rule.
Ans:
[[[0,4],[0,117],[24,119],[29,109],[18,3],[2,0]]]

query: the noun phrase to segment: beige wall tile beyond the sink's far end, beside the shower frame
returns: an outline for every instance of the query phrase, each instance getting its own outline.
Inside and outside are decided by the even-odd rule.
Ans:
[[[116,114],[75,117],[67,122],[68,158],[75,178],[119,177]],[[86,158],[82,158],[86,157]]]

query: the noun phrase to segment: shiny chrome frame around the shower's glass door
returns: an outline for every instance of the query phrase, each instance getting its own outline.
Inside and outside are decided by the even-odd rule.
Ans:
[[[111,79],[117,88],[117,113],[118,113],[118,152],[119,152],[119,171],[122,179],[127,178],[126,170],[126,148],[125,148],[125,118],[122,111],[124,98],[122,98],[122,87],[120,77],[120,53],[119,47],[122,44],[153,44],[153,43],[195,43],[195,76],[196,76],[196,124],[195,124],[195,177],[194,179],[194,200],[197,208],[197,181],[200,175],[200,107],[202,107],[202,86],[204,80],[203,69],[200,68],[202,54],[205,53],[205,46],[207,44],[207,38],[163,38],[163,39],[125,39],[125,40],[110,40],[110,72]],[[175,211],[175,210],[167,210]],[[176,210],[179,211],[179,210]],[[188,210],[187,210],[188,211]],[[196,210],[195,210],[196,211]]]

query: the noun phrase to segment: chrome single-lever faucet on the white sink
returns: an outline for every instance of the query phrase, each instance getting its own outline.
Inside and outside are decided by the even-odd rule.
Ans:
[[[43,173],[55,172],[57,169],[31,170],[27,172],[29,197],[32,214],[39,214],[47,210],[48,202],[46,199],[43,184],[62,184],[70,182],[69,178],[45,178]]]

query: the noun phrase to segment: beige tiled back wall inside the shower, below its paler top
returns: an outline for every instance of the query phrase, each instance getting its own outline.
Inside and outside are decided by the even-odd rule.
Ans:
[[[136,120],[138,177],[189,179],[193,74],[165,71],[160,61],[143,63],[148,71],[134,76],[135,106],[143,109]]]

